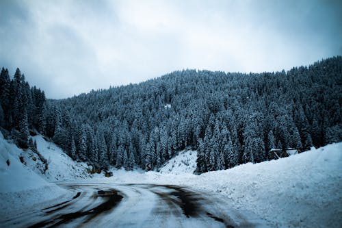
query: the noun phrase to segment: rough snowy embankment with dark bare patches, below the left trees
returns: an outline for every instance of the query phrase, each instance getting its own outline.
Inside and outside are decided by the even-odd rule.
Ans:
[[[90,177],[86,163],[75,162],[60,147],[57,147],[53,142],[44,140],[40,135],[34,136],[32,139],[36,140],[39,153],[47,160],[48,168],[43,176],[48,180],[61,181]],[[34,168],[35,166],[31,167]],[[36,173],[40,173],[40,171],[38,170]]]

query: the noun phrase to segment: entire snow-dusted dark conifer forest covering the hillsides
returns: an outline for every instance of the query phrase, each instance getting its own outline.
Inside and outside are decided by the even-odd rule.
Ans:
[[[191,147],[205,173],[342,140],[341,56],[276,73],[175,71],[46,102],[19,70],[11,80],[3,69],[0,95],[1,127],[21,144],[36,129],[101,168],[157,169]]]

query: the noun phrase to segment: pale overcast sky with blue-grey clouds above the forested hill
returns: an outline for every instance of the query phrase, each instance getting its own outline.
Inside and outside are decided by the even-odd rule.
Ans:
[[[289,70],[342,55],[342,1],[0,1],[0,66],[48,98],[183,68]]]

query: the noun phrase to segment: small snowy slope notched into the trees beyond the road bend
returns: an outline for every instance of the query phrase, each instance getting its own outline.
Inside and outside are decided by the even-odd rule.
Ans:
[[[181,151],[175,157],[172,157],[159,170],[159,173],[194,173],[196,169],[197,151]]]

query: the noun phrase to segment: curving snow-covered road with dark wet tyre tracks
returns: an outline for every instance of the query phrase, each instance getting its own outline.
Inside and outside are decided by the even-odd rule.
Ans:
[[[254,227],[224,200],[181,186],[60,186],[74,197],[0,220],[0,227]]]

